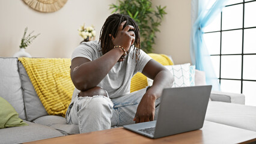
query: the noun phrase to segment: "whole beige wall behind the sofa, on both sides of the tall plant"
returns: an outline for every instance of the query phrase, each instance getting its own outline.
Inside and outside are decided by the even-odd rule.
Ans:
[[[26,49],[33,57],[70,58],[82,38],[77,29],[82,23],[93,24],[99,38],[109,4],[115,0],[69,0],[54,13],[32,10],[22,0],[0,1],[0,56],[10,57],[19,50],[23,31],[41,33]],[[154,52],[171,55],[175,64],[190,62],[190,0],[153,0],[154,5],[166,5]],[[97,7],[96,7],[97,5]]]

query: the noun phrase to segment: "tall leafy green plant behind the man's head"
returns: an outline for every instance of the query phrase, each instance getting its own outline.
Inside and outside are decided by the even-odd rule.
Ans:
[[[139,26],[141,34],[141,49],[146,53],[151,53],[153,50],[154,38],[156,32],[161,25],[165,7],[156,6],[156,10],[152,7],[151,0],[118,0],[117,4],[111,4],[112,13],[119,12],[132,17]]]

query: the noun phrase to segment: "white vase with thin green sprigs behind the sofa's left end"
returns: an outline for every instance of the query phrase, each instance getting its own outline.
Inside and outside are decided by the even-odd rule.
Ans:
[[[26,47],[28,47],[32,41],[37,38],[38,35],[31,35],[34,31],[30,32],[28,36],[26,36],[26,31],[28,31],[28,27],[25,28],[21,43],[20,43],[20,50],[19,52],[15,53],[14,57],[29,57],[31,58],[31,55],[29,55],[28,52],[25,51]]]

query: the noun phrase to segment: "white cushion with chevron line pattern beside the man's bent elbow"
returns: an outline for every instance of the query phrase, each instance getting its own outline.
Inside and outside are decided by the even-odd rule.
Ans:
[[[171,72],[172,76],[174,77],[174,83],[172,85],[172,88],[190,86],[189,66],[190,66],[189,63],[164,66]],[[153,80],[149,78],[147,80],[148,80],[148,86],[151,86],[153,84]]]

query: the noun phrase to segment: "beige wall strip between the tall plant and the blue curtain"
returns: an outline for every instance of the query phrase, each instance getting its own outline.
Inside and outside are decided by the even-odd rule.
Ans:
[[[154,52],[171,55],[175,64],[190,60],[191,0],[157,0],[155,5],[166,5],[165,19],[157,33]]]

